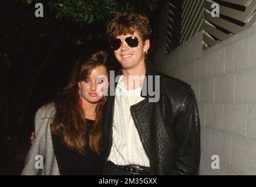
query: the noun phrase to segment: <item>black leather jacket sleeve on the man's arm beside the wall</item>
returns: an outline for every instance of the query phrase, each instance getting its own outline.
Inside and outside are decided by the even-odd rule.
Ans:
[[[196,98],[191,89],[180,102],[174,137],[174,175],[197,175],[200,164],[200,120]]]

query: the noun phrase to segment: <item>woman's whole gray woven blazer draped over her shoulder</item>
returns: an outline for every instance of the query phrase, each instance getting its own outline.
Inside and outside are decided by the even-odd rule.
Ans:
[[[21,175],[59,175],[50,133],[50,123],[52,123],[54,115],[55,107],[53,102],[48,103],[36,112],[35,140],[26,155],[25,167]],[[40,159],[37,155],[42,156],[43,165],[38,164]],[[38,165],[40,168],[36,167]]]

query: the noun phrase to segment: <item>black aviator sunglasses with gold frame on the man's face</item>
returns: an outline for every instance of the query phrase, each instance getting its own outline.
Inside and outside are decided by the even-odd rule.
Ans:
[[[110,40],[111,48],[113,50],[119,49],[119,47],[122,45],[123,40],[130,47],[137,47],[140,41],[136,36],[123,37],[120,39],[111,39]]]

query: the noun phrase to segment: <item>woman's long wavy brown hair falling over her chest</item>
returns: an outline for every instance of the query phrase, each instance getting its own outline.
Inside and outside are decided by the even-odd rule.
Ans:
[[[51,125],[54,134],[62,136],[70,150],[86,155],[86,147],[100,154],[102,148],[102,105],[96,106],[96,119],[89,132],[89,145],[86,144],[88,124],[85,113],[79,105],[79,81],[89,77],[90,72],[100,65],[106,67],[107,54],[104,51],[85,51],[76,62],[69,84],[55,99],[55,118]]]

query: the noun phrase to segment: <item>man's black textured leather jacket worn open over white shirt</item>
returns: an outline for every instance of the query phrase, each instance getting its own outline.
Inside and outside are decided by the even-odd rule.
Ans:
[[[120,74],[122,71],[117,75]],[[200,120],[194,92],[190,85],[177,78],[147,68],[146,77],[148,75],[160,75],[159,102],[149,102],[147,94],[142,96],[146,99],[131,106],[130,111],[150,160],[151,175],[197,175]],[[114,96],[108,96],[103,106],[103,155],[106,159],[112,147],[113,115]]]

